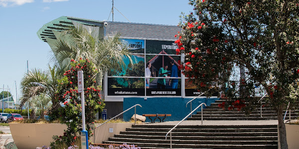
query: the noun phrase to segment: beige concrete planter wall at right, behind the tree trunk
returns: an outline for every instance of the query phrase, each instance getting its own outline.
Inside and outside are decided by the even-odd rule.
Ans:
[[[298,149],[299,147],[299,125],[286,124],[287,142],[289,149]],[[278,137],[278,149],[280,149],[280,142]]]

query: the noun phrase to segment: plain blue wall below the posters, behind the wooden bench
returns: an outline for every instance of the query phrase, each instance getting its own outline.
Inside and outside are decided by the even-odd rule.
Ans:
[[[142,114],[171,114],[171,117],[167,117],[165,121],[180,121],[186,117],[190,111],[190,103],[186,107],[186,103],[192,98],[170,98],[170,97],[155,97],[155,98],[138,98],[138,97],[125,97],[124,98],[124,110],[130,107],[140,104],[142,107],[137,106],[136,113]],[[210,106],[219,98],[198,98],[192,101],[192,110],[194,110],[202,102]],[[205,106],[204,106],[205,107]],[[203,108],[204,108],[203,107]],[[198,111],[201,109],[199,108]],[[194,112],[193,114],[195,114]],[[134,115],[134,108],[124,113],[124,120],[129,121]],[[159,121],[159,120],[158,120]],[[150,122],[147,117],[146,122]]]

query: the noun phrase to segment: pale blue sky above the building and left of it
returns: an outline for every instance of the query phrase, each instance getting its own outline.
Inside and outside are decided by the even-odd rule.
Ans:
[[[188,1],[114,0],[114,21],[177,25],[193,9]],[[51,49],[36,34],[44,24],[60,16],[112,21],[111,8],[112,0],[0,0],[0,92],[4,85],[15,101],[21,97],[27,61],[29,71],[47,70]]]

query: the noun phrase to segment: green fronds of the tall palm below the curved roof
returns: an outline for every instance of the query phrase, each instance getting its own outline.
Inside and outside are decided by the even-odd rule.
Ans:
[[[90,60],[98,69],[98,83],[101,84],[104,73],[111,70],[121,72],[124,69],[124,58],[131,64],[133,60],[128,50],[128,43],[120,40],[120,34],[114,33],[105,37],[97,35],[82,25],[63,32],[55,32],[57,41],[52,46],[53,60],[60,68],[68,68],[70,60]]]

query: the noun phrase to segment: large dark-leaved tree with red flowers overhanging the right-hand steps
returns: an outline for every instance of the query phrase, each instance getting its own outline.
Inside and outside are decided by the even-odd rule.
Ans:
[[[298,0],[189,0],[193,11],[182,16],[176,37],[180,68],[200,91],[219,91],[231,100],[224,108],[244,108],[260,86],[269,95],[279,120],[281,149],[287,149],[283,110],[299,78]],[[236,68],[240,91],[233,78]],[[218,87],[212,86],[217,85]],[[229,89],[228,86],[229,85]],[[293,98],[291,98],[293,97]],[[293,101],[293,100],[292,100]]]

